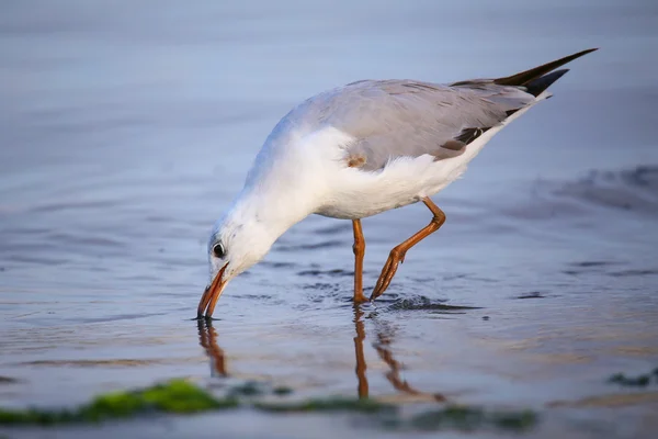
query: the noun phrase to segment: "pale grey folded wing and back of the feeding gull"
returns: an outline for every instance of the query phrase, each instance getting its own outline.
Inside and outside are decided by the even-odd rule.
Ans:
[[[411,80],[363,80],[314,97],[286,123],[308,131],[334,126],[356,140],[343,145],[359,168],[377,170],[397,157],[456,157],[486,130],[535,101],[490,80],[452,86]],[[283,122],[283,121],[282,121]]]

